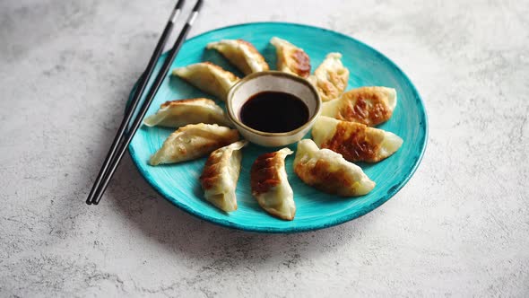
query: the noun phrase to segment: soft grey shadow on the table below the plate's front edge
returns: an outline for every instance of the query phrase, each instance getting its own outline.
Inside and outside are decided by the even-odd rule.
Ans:
[[[316,232],[264,234],[243,232],[204,222],[186,214],[160,197],[136,171],[126,156],[107,190],[117,212],[126,216],[131,228],[137,228],[166,250],[186,254],[188,258],[204,256],[230,262],[258,263],[280,255],[293,264],[306,254],[333,251],[343,244],[351,245],[377,216],[367,215],[342,225]],[[352,239],[352,241],[351,241]]]

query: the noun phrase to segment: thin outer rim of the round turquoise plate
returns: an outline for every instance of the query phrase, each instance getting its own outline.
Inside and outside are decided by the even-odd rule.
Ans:
[[[355,38],[353,38],[353,37],[351,37],[349,35],[346,35],[344,33],[338,32],[338,31],[333,31],[333,30],[330,30],[330,29],[325,29],[325,28],[322,28],[322,27],[314,26],[314,25],[308,25],[308,24],[302,24],[302,23],[296,23],[296,22],[244,22],[244,23],[238,23],[238,24],[233,24],[233,25],[228,25],[228,26],[216,28],[216,29],[213,29],[211,31],[204,31],[204,32],[202,32],[200,34],[195,35],[194,37],[192,37],[190,39],[186,39],[185,42],[191,41],[193,39],[201,38],[202,36],[204,36],[206,34],[213,33],[215,31],[223,31],[223,30],[227,30],[227,29],[254,26],[254,25],[285,25],[285,26],[293,26],[293,27],[310,28],[310,29],[316,29],[316,30],[319,30],[319,31],[325,31],[326,33],[334,34],[334,35],[336,35],[336,36],[338,36],[340,38],[343,38],[343,39],[351,39],[352,41],[360,44],[361,47],[368,48],[370,51],[374,52],[377,56],[382,57],[383,59],[385,59],[389,63],[389,65],[391,67],[394,67],[400,74],[402,74],[404,79],[412,87],[412,92],[415,94],[416,99],[418,100],[418,102],[420,102],[420,105],[421,105],[421,108],[422,108],[422,109],[420,109],[421,110],[421,118],[424,119],[424,124],[423,124],[424,125],[424,139],[422,140],[422,144],[421,144],[421,152],[419,153],[419,157],[414,161],[413,166],[412,166],[412,170],[409,171],[405,175],[403,180],[401,180],[401,181],[399,181],[397,183],[397,187],[396,188],[395,187],[390,188],[389,191],[386,193],[386,195],[384,195],[383,197],[380,197],[379,199],[377,199],[375,202],[373,202],[373,204],[370,204],[368,206],[365,206],[365,207],[361,208],[358,212],[353,212],[351,214],[343,215],[343,216],[340,216],[338,218],[335,218],[332,221],[325,222],[325,223],[319,223],[317,225],[291,226],[291,227],[285,227],[285,228],[280,228],[280,227],[261,227],[261,226],[251,226],[251,225],[241,224],[241,223],[233,223],[233,222],[230,222],[228,220],[212,217],[212,216],[209,216],[209,215],[204,215],[203,213],[196,212],[194,209],[189,208],[188,206],[180,204],[177,200],[171,199],[169,194],[167,194],[162,188],[160,188],[158,183],[155,183],[155,181],[153,181],[153,179],[152,179],[152,177],[151,177],[151,175],[149,174],[148,171],[143,171],[143,169],[139,166],[139,162],[141,162],[141,161],[136,156],[136,154],[134,152],[134,147],[132,145],[129,145],[128,146],[128,152],[130,153],[131,159],[132,159],[132,161],[134,163],[134,167],[141,174],[143,179],[147,180],[148,184],[161,197],[163,197],[164,199],[169,201],[169,203],[171,203],[172,205],[177,206],[180,210],[185,211],[187,214],[194,215],[194,216],[198,217],[199,219],[202,219],[202,220],[210,222],[210,223],[214,223],[214,224],[217,224],[217,225],[221,225],[221,226],[224,226],[224,227],[228,227],[228,228],[231,228],[231,229],[237,229],[237,230],[245,231],[245,232],[293,233],[293,232],[310,232],[310,231],[317,231],[317,230],[321,230],[321,229],[325,229],[325,228],[330,228],[330,227],[333,227],[333,226],[338,225],[338,224],[350,222],[353,219],[356,219],[356,218],[359,218],[360,216],[366,215],[369,212],[377,209],[377,207],[382,206],[390,198],[395,197],[395,194],[397,192],[399,192],[408,183],[408,181],[410,179],[412,179],[413,174],[419,168],[419,165],[421,164],[422,158],[423,158],[424,153],[426,151],[426,147],[428,145],[428,139],[429,139],[429,122],[428,122],[428,114],[426,112],[426,106],[424,104],[424,101],[422,101],[421,94],[419,93],[419,91],[417,90],[415,85],[412,83],[412,80],[410,80],[410,77],[406,73],[404,73],[403,70],[399,66],[397,66],[392,59],[390,59],[389,57],[386,57],[386,55],[384,55],[382,52],[378,51],[376,48],[373,48],[373,47],[369,46],[368,44],[366,44],[365,42],[363,42],[363,41],[361,41],[359,39],[355,39]],[[160,56],[160,59],[162,59],[163,57],[167,56],[168,53],[169,53],[169,51],[164,52]],[[160,59],[159,59],[159,61],[160,61]],[[139,78],[138,78],[138,80],[139,80]],[[132,97],[133,97],[135,89],[136,89],[136,85],[137,85],[137,81],[136,81],[136,83],[134,83],[134,86],[133,86],[133,88],[132,88],[132,90],[131,90],[131,92],[129,94],[128,100],[126,101],[126,109],[128,108],[128,105],[129,105],[130,101],[132,100]]]

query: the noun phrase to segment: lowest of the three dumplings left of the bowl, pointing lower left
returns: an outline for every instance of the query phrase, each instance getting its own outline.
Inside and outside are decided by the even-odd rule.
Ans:
[[[170,134],[149,163],[158,165],[193,160],[238,140],[237,129],[216,124],[188,124]]]

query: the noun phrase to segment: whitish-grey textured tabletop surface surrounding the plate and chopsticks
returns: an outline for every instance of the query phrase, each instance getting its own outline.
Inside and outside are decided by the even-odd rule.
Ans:
[[[100,206],[84,204],[172,5],[0,2],[0,296],[529,295],[527,1],[206,1],[192,34],[342,31],[426,102],[429,146],[396,197],[292,235],[186,215],[128,157]]]

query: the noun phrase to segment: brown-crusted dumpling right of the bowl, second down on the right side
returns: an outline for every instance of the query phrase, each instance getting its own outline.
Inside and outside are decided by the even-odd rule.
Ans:
[[[396,106],[396,91],[386,87],[361,87],[322,105],[323,116],[374,127],[386,122]]]

